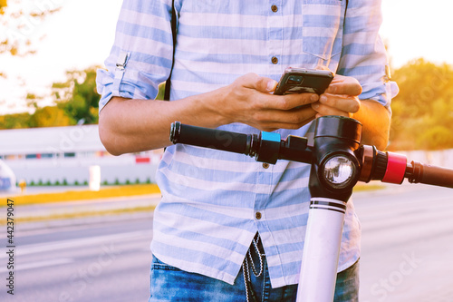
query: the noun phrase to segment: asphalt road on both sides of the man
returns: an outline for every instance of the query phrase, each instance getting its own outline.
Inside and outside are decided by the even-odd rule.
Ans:
[[[362,225],[360,301],[453,301],[452,192],[389,188],[354,193]],[[19,225],[14,297],[6,294],[2,236],[0,301],[147,301],[152,213],[128,215]]]

